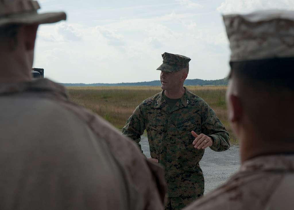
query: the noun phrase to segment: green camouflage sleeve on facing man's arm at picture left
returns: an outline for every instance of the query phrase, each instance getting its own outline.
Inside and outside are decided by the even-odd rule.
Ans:
[[[133,114],[127,120],[125,126],[123,127],[123,134],[133,139],[139,146],[141,152],[143,152],[141,148],[141,135],[146,129],[145,118],[143,112],[143,104],[137,106],[137,108],[133,111]]]

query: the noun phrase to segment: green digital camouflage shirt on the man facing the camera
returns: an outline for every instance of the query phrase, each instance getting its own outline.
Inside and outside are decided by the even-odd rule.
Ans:
[[[183,97],[170,109],[162,91],[135,109],[123,128],[123,134],[140,146],[140,136],[145,129],[151,157],[158,159],[166,171],[168,196],[202,196],[204,178],[199,161],[204,150],[194,148],[192,142],[195,138],[191,131],[210,136],[214,151],[230,147],[228,132],[210,106],[186,89]]]

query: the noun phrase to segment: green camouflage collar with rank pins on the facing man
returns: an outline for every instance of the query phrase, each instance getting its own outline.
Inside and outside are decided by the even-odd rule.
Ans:
[[[180,98],[180,100],[176,103],[176,105],[173,107],[170,111],[176,111],[177,109],[181,109],[182,107],[187,107],[191,103],[189,100],[189,92],[186,87],[184,95]],[[166,103],[166,100],[163,97],[163,90],[159,93],[157,99],[155,100],[154,108],[161,108],[163,110],[168,110],[168,104]]]

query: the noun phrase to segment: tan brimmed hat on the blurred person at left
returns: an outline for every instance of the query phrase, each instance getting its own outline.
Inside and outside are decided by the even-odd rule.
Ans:
[[[44,24],[66,20],[64,12],[38,14],[33,0],[0,0],[0,27],[8,24]]]

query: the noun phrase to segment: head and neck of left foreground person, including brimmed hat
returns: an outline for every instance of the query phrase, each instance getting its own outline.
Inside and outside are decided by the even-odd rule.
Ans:
[[[39,14],[33,0],[0,0],[0,82],[31,80],[39,24],[66,19],[64,12]]]

